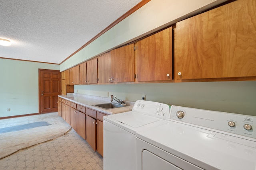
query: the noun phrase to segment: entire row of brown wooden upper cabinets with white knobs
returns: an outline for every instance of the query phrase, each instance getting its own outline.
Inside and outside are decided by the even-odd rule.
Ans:
[[[70,84],[255,80],[254,3],[214,8],[70,68]]]

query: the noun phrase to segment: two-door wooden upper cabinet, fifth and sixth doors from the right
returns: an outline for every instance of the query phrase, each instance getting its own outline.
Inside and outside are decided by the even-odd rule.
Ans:
[[[98,83],[97,58],[80,64],[80,84]]]

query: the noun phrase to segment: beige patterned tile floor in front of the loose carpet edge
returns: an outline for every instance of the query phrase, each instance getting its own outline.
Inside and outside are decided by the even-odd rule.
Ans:
[[[2,158],[0,170],[103,170],[103,158],[72,129]]]

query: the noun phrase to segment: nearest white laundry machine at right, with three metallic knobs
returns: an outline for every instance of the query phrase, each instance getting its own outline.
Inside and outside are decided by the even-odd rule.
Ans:
[[[256,170],[256,117],[172,106],[136,144],[137,170]]]

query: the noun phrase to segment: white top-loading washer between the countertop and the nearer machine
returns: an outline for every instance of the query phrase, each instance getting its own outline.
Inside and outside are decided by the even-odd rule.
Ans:
[[[104,170],[135,170],[136,132],[166,123],[169,113],[167,104],[138,100],[132,111],[104,116]]]

